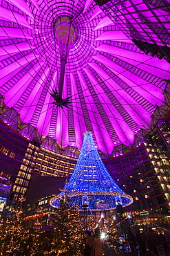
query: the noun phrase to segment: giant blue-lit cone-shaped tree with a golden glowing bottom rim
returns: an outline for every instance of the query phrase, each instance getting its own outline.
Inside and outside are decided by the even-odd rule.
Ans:
[[[70,181],[50,202],[53,207],[59,207],[64,191],[70,197],[70,203],[78,205],[80,210],[85,204],[94,211],[114,209],[118,202],[123,206],[133,202],[132,197],[125,194],[107,172],[94,145],[92,133],[88,131],[85,132],[81,154]]]

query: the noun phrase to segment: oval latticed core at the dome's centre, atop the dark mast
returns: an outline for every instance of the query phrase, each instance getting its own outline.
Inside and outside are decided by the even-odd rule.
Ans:
[[[70,17],[59,17],[54,26],[54,33],[60,46],[71,46],[78,37],[78,28]]]

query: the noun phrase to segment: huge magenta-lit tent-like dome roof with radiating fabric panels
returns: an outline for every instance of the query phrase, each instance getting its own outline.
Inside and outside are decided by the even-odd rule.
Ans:
[[[169,3],[99,2],[1,0],[1,118],[16,111],[20,130],[30,124],[61,147],[81,149],[92,131],[111,156],[164,105]]]

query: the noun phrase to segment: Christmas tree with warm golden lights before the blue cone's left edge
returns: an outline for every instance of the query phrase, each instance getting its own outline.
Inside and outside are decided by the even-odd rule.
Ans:
[[[82,256],[84,248],[84,227],[76,205],[70,207],[70,199],[64,192],[56,209],[54,240],[50,255]]]

